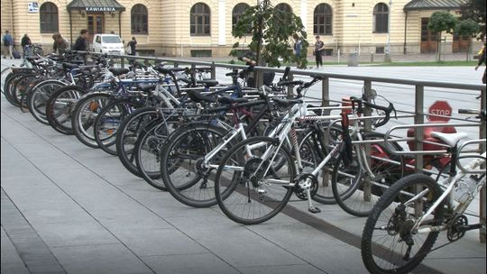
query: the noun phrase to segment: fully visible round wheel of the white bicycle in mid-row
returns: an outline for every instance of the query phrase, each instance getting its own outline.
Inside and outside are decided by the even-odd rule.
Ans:
[[[249,138],[228,151],[218,167],[216,201],[234,222],[260,224],[288,203],[295,175],[286,147],[269,137]]]

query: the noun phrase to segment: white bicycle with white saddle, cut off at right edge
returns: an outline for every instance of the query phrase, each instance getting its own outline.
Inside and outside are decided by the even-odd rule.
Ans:
[[[461,109],[459,113],[478,114],[485,124],[485,110]],[[464,212],[485,185],[486,152],[460,153],[467,145],[486,140],[459,146],[466,133],[433,132],[432,136],[449,145],[448,175],[442,178],[440,174],[435,180],[426,174],[412,174],[381,196],[363,228],[362,259],[371,273],[408,273],[429,252],[458,241],[466,231],[482,228],[482,224],[468,224]],[[459,161],[469,158],[473,160],[466,165]],[[446,232],[449,242],[433,248],[440,232]]]

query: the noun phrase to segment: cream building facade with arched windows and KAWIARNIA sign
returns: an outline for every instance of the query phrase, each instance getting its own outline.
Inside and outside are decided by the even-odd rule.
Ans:
[[[71,43],[81,29],[115,32],[138,41],[142,54],[170,57],[227,56],[236,39],[232,25],[259,0],[1,0],[2,32],[19,43],[24,33],[46,51],[52,34]],[[465,0],[271,0],[300,16],[308,41],[320,35],[326,54],[421,53],[436,50],[427,31],[435,11],[456,16]],[[467,40],[447,33],[445,52],[467,50]],[[247,38],[250,41],[250,37]],[[290,41],[289,41],[290,43]],[[245,41],[241,41],[243,47]]]

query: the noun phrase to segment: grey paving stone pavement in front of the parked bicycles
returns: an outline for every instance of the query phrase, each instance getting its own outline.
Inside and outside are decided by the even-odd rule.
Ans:
[[[363,218],[293,200],[269,222],[235,224],[179,204],[119,160],[38,123],[1,98],[4,273],[365,273]],[[415,273],[485,273],[478,232]],[[445,239],[440,241],[445,242]]]

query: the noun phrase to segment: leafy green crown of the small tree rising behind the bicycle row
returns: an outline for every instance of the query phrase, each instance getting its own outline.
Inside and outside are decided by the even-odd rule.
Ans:
[[[296,14],[276,9],[269,0],[263,0],[259,5],[248,8],[238,19],[232,34],[239,39],[252,35],[248,47],[256,53],[257,64],[261,64],[262,60],[270,67],[280,67],[281,60],[299,61],[301,66],[306,66],[308,63],[306,52],[309,43],[301,19]],[[292,48],[289,41],[293,34],[297,34],[303,41],[298,58],[294,56],[292,50],[289,50]],[[234,43],[230,55],[238,56],[239,47],[239,42]]]

